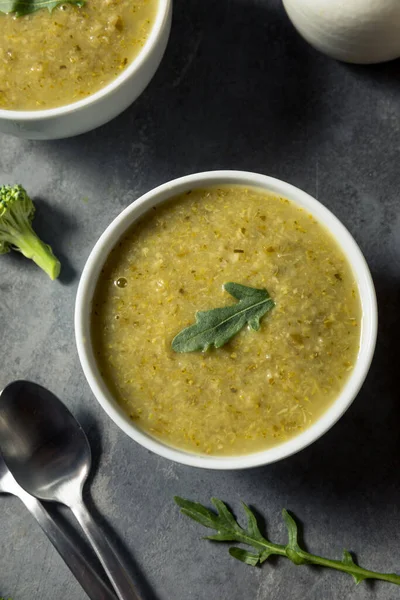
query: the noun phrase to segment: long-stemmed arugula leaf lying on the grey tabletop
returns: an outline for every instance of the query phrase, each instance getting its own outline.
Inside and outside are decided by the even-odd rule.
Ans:
[[[307,552],[300,547],[297,523],[286,509],[283,509],[282,515],[288,532],[288,543],[274,544],[261,533],[253,511],[244,503],[242,505],[247,517],[246,527],[242,527],[237,522],[226,504],[222,500],[218,500],[218,498],[211,498],[211,502],[217,509],[217,512],[209,510],[198,502],[185,500],[179,496],[176,496],[174,500],[184,515],[204,525],[204,527],[216,530],[216,534],[209,535],[205,539],[215,542],[238,542],[253,548],[255,552],[249,552],[246,549],[237,547],[229,549],[231,556],[253,567],[261,565],[270,556],[275,554],[288,558],[295,565],[317,565],[342,571],[351,575],[356,584],[361,583],[365,579],[380,579],[381,581],[400,585],[400,575],[396,575],[395,573],[379,573],[364,569],[357,565],[347,550],[343,551],[342,560],[323,558],[322,556]]]

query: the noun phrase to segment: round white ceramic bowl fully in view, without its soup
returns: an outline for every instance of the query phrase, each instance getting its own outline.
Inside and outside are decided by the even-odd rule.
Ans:
[[[165,200],[193,188],[221,184],[252,186],[293,201],[311,213],[333,234],[350,262],[362,303],[360,351],[356,365],[343,391],[322,417],[297,437],[269,450],[245,456],[214,457],[191,454],[172,448],[138,429],[119,407],[99,373],[90,337],[90,314],[96,282],[111,249],[126,230],[145,212]],[[356,397],[370,366],[377,334],[377,307],[374,285],[368,266],[354,239],[340,221],[320,202],[298,188],[255,173],[211,171],[189,175],[165,183],[128,206],[109,225],[93,248],[82,273],[75,306],[75,334],[79,358],[93,394],[113,421],[133,440],[156,454],[185,465],[208,469],[244,469],[275,462],[302,450],[343,415]]]

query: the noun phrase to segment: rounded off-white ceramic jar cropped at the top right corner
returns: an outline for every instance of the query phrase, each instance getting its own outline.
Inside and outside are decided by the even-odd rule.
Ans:
[[[400,0],[283,0],[297,31],[317,50],[349,63],[400,57]]]

